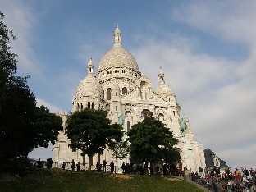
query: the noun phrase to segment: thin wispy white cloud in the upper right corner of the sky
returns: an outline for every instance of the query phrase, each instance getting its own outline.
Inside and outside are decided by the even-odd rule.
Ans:
[[[197,1],[174,7],[171,17],[232,41],[256,43],[255,1]]]

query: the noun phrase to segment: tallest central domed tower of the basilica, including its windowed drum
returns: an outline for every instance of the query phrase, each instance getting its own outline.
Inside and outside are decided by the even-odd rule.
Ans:
[[[126,94],[135,88],[135,80],[141,73],[135,58],[122,48],[121,30],[114,33],[114,46],[102,58],[98,65],[96,79],[103,86],[104,98],[111,100],[112,85],[117,84],[120,94]]]

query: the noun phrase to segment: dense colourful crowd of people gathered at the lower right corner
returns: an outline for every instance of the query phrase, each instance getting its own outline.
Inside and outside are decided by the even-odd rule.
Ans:
[[[256,170],[238,169],[231,171],[230,168],[206,167],[202,176],[198,172],[190,174],[190,180],[203,185],[213,191],[231,192],[255,192]]]

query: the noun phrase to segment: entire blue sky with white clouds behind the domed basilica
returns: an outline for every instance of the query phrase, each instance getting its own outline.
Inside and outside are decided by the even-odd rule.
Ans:
[[[232,168],[256,168],[255,1],[12,1],[0,0],[16,34],[18,74],[38,104],[71,111],[89,57],[95,70],[113,46],[123,47],[153,83],[162,66],[194,138]],[[52,157],[37,149],[33,158]]]

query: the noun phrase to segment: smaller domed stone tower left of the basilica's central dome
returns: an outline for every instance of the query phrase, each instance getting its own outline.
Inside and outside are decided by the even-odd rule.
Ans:
[[[72,112],[80,111],[85,107],[97,110],[103,108],[103,89],[94,77],[92,57],[88,62],[87,76],[78,85],[72,104]]]

